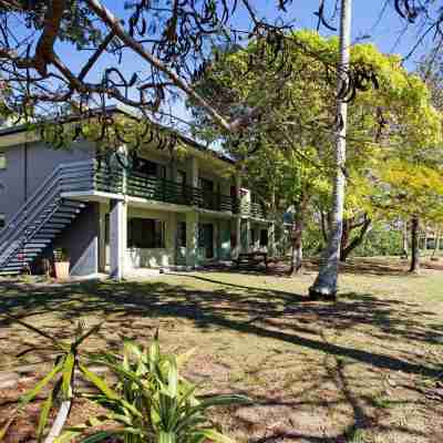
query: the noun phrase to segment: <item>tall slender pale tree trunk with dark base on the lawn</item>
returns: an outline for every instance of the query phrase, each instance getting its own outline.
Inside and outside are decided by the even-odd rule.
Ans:
[[[351,47],[351,8],[352,0],[341,0],[340,19],[340,64],[337,79],[337,121],[341,124],[337,131],[336,138],[336,176],[332,190],[332,226],[328,236],[328,245],[323,253],[319,274],[316,281],[309,288],[309,297],[312,299],[336,299],[337,281],[339,274],[340,243],[342,233],[344,186],[343,174],[346,165],[346,135],[348,123],[348,105],[341,95],[343,84],[348,84],[348,71]],[[346,83],[344,83],[346,82]]]

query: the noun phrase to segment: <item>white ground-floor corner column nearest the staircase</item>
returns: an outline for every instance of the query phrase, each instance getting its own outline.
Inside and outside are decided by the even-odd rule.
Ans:
[[[110,275],[116,280],[124,277],[127,240],[127,206],[123,200],[111,200],[110,213]]]

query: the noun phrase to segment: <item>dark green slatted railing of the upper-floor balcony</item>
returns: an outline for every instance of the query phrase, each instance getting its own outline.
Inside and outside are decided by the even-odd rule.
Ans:
[[[125,194],[148,200],[196,206],[202,209],[238,213],[236,198],[197,187],[178,184],[168,179],[136,172],[123,172],[99,162],[79,165],[76,173],[70,173],[63,182],[63,190],[69,193],[101,192]]]

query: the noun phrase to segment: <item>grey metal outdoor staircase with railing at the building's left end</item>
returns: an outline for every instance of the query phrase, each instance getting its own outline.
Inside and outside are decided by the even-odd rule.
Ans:
[[[86,206],[65,199],[84,182],[93,162],[60,165],[0,230],[0,275],[20,274],[53,243]]]

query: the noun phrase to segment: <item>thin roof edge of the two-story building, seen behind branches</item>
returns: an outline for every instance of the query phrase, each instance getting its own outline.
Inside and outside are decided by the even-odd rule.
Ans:
[[[106,110],[106,113],[109,112],[110,114],[112,114],[112,113],[121,113],[121,114],[127,115],[127,116],[133,117],[133,119],[141,119],[141,116],[135,112],[135,110],[131,109],[130,106],[122,105],[122,104],[110,105],[110,106],[106,106],[105,110]],[[90,111],[90,113],[91,113],[92,115],[93,115],[95,112],[99,114],[99,112],[101,112],[101,110],[96,109],[96,110]],[[80,116],[80,115],[75,115],[75,116],[69,116],[69,115],[68,115],[68,116],[64,119],[63,122],[64,122],[64,123],[78,122],[78,121],[80,121],[80,120],[81,120],[81,116]],[[223,162],[226,162],[226,163],[229,163],[229,164],[233,164],[233,165],[236,163],[235,159],[229,158],[229,157],[226,156],[226,155],[223,155],[223,154],[220,154],[220,153],[217,153],[216,151],[210,150],[210,148],[208,148],[208,147],[202,145],[200,143],[198,143],[198,142],[196,142],[195,140],[188,137],[187,135],[184,135],[184,134],[179,133],[179,132],[176,131],[176,130],[172,130],[171,127],[163,126],[163,125],[161,125],[159,123],[155,123],[155,122],[153,122],[153,121],[150,121],[150,122],[151,122],[153,125],[155,125],[155,126],[157,126],[157,127],[159,127],[159,128],[162,128],[162,130],[169,131],[169,132],[176,134],[177,137],[178,137],[182,142],[186,143],[187,145],[189,145],[189,146],[192,146],[192,147],[194,147],[194,148],[196,148],[196,150],[198,150],[198,151],[200,151],[200,152],[209,153],[209,154],[214,155],[215,157],[222,159]],[[1,137],[1,136],[6,136],[6,135],[18,134],[18,133],[21,133],[21,132],[27,132],[28,130],[29,130],[29,125],[28,125],[28,124],[20,124],[20,125],[3,127],[3,128],[0,130],[0,137]]]

